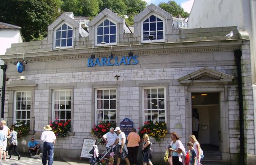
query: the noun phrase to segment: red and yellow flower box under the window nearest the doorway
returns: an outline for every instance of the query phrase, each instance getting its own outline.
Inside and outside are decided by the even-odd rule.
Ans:
[[[147,121],[139,130],[139,135],[142,138],[143,134],[147,133],[148,136],[156,139],[156,142],[160,142],[161,137],[164,137],[167,133],[166,123],[154,123],[153,121]]]

